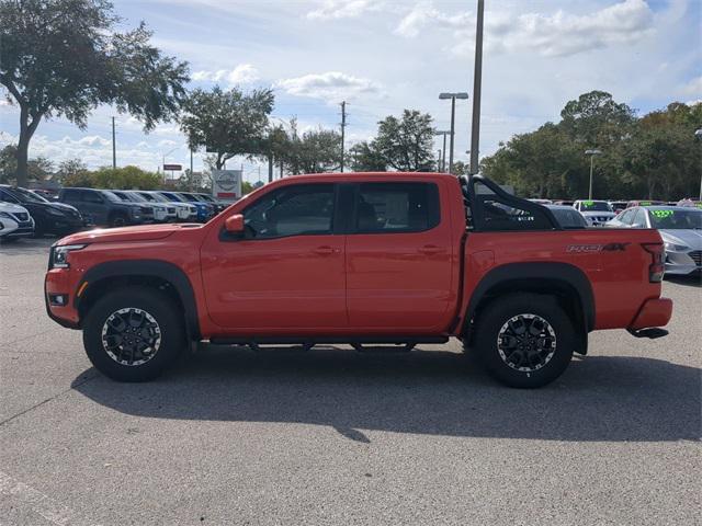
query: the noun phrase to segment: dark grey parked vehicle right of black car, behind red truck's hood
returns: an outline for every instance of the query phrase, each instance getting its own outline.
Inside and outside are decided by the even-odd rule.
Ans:
[[[154,209],[150,206],[125,203],[106,190],[61,188],[58,198],[61,203],[78,208],[91,225],[101,227],[141,225],[154,217]]]

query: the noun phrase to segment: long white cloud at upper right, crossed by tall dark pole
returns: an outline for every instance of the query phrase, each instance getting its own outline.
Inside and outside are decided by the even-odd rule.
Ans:
[[[654,14],[644,0],[623,0],[589,14],[491,12],[485,23],[487,52],[534,50],[543,56],[567,56],[635,43],[653,32]],[[415,38],[432,28],[451,30],[452,50],[473,49],[475,14],[446,14],[431,2],[421,2],[403,18],[395,33]]]

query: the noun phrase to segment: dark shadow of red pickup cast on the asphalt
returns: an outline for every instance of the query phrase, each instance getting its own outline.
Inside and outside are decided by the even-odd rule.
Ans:
[[[576,357],[551,386],[518,390],[441,350],[378,356],[205,346],[154,382],[117,384],[89,369],[73,389],[135,416],[326,425],[361,443],[374,431],[578,442],[699,441],[701,433],[701,370],[639,357]]]

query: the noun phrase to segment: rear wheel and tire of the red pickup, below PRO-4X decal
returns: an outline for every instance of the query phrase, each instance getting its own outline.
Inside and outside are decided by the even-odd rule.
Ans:
[[[490,376],[506,386],[530,389],[565,371],[576,334],[553,296],[522,293],[487,306],[478,316],[474,343]]]

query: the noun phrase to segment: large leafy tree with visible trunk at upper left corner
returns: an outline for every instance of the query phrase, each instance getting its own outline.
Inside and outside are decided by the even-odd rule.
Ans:
[[[0,0],[0,83],[20,106],[18,184],[27,181],[30,141],[43,118],[79,128],[100,104],[114,104],[151,129],[184,95],[188,66],[149,44],[141,23],[126,33],[107,0]]]

